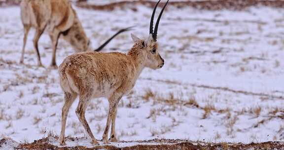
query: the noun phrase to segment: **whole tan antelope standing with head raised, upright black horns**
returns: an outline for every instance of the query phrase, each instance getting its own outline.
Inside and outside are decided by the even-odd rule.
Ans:
[[[162,9],[153,31],[153,19],[158,3],[152,13],[150,35],[147,39],[140,39],[131,35],[134,45],[127,54],[119,52],[81,52],[68,56],[59,66],[60,85],[65,94],[59,138],[61,145],[65,145],[66,119],[69,109],[77,96],[79,96],[79,103],[76,114],[93,144],[99,143],[87,123],[85,111],[91,99],[99,97],[108,99],[109,106],[103,141],[104,144],[109,143],[107,135],[110,123],[110,141],[117,141],[115,118],[119,100],[123,95],[131,91],[145,67],[159,69],[164,66],[164,60],[158,52],[157,31],[160,18],[168,1]]]

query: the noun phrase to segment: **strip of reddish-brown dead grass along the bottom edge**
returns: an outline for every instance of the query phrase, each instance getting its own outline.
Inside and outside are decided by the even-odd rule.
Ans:
[[[55,137],[58,138],[58,137]],[[76,141],[78,138],[68,137],[71,141]],[[281,150],[284,147],[282,142],[265,142],[265,143],[250,143],[250,144],[234,144],[234,143],[195,143],[187,140],[170,140],[170,139],[154,139],[148,141],[129,141],[136,142],[138,145],[131,147],[118,148],[111,145],[95,146],[86,148],[83,146],[76,147],[58,147],[48,143],[48,138],[34,141],[33,143],[20,144],[15,150]],[[1,145],[7,142],[6,139],[0,140]],[[121,141],[121,143],[129,143]],[[144,143],[144,144],[143,144]],[[145,143],[153,143],[146,145]],[[193,144],[194,143],[194,144]],[[143,145],[142,145],[143,144]]]

